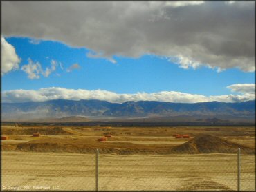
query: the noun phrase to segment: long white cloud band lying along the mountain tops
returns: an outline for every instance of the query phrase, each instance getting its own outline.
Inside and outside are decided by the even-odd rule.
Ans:
[[[118,94],[107,90],[84,90],[67,88],[40,88],[39,90],[6,90],[2,93],[2,102],[44,102],[53,99],[99,99],[108,102],[122,103],[127,101],[161,101],[175,103],[195,102],[244,102],[255,99],[254,93],[243,95],[219,95],[206,97],[176,91],[162,91],[158,93]]]

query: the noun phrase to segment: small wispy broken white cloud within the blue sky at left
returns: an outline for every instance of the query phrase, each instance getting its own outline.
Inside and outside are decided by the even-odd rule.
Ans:
[[[34,62],[28,58],[28,64],[22,66],[21,70],[28,74],[29,79],[39,79],[40,75],[48,77],[51,73],[53,73],[53,71],[56,70],[57,66],[58,62],[51,60],[51,68],[46,67],[46,70],[43,70],[41,64],[38,61]]]

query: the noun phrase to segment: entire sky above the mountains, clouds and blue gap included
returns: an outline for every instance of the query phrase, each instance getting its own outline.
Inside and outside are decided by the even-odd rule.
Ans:
[[[1,101],[255,99],[254,1],[1,2]]]

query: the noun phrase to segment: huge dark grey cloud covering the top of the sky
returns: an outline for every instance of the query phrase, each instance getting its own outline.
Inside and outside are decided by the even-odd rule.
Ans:
[[[3,1],[2,32],[86,47],[113,62],[149,53],[176,57],[182,68],[255,71],[254,1]]]

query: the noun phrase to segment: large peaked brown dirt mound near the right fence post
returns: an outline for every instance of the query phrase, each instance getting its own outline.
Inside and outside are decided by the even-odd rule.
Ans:
[[[241,148],[242,153],[254,154],[253,148],[243,146],[241,144],[229,142],[212,135],[201,135],[194,139],[175,146],[172,148],[172,153],[237,153],[237,148]]]

